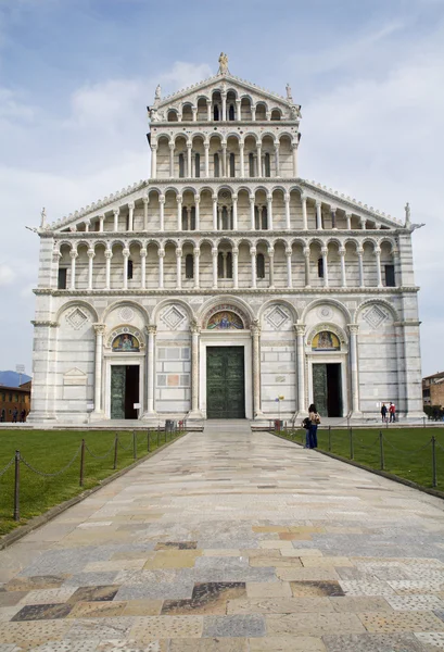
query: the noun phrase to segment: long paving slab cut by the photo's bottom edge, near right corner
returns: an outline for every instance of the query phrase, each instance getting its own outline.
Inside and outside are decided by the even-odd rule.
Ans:
[[[325,636],[327,652],[424,652],[413,634]]]

